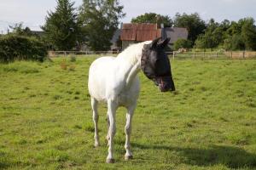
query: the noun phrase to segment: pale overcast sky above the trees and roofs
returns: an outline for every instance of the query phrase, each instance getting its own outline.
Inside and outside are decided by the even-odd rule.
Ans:
[[[79,7],[83,0],[72,0]],[[124,6],[126,16],[121,22],[129,23],[140,14],[156,13],[169,15],[176,13],[200,14],[203,20],[240,20],[253,17],[256,20],[256,0],[119,0]],[[0,33],[5,33],[8,26],[23,23],[33,31],[39,31],[44,25],[47,11],[54,11],[55,0],[0,0]]]

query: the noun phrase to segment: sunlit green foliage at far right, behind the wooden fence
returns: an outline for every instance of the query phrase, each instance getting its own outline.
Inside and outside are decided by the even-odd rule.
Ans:
[[[256,26],[253,18],[238,22],[224,20],[220,24],[213,19],[207,25],[205,34],[195,41],[196,48],[218,48],[227,50],[256,50]]]

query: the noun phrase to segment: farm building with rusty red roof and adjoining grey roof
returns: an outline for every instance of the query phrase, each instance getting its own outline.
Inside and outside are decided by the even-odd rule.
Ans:
[[[189,32],[186,28],[166,27],[159,28],[157,24],[123,24],[121,28],[120,40],[122,41],[122,49],[137,42],[154,40],[157,37],[170,37],[170,46],[179,38],[187,39]]]

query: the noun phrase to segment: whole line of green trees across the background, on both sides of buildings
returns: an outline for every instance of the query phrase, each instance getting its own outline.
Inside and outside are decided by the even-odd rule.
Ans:
[[[43,37],[33,34],[29,28],[17,25],[12,34],[37,37],[55,50],[79,49],[86,45],[91,50],[108,50],[114,31],[125,17],[119,0],[83,0],[74,8],[72,0],[57,0],[55,11],[49,11],[45,24],[41,26]],[[131,20],[131,23],[157,23],[165,27],[185,27],[189,31],[187,40],[179,39],[173,48],[222,48],[226,50],[256,50],[256,26],[253,18],[238,21],[205,21],[197,13],[160,15],[146,13]]]

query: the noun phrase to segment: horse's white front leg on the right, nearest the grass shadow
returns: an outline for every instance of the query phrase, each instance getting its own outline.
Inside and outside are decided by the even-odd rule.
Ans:
[[[131,105],[127,108],[126,113],[126,124],[125,124],[125,161],[132,159],[132,153],[131,153],[131,144],[130,144],[130,138],[131,138],[131,120],[133,116],[133,112],[135,110],[136,104]]]

